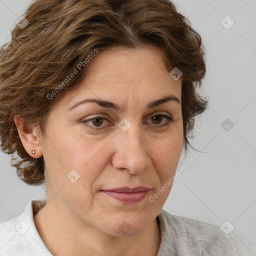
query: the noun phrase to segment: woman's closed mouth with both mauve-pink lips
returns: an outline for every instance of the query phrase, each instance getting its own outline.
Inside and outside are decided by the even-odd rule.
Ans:
[[[151,190],[148,187],[120,187],[114,189],[101,190],[104,194],[111,196],[114,199],[122,201],[124,203],[136,203],[142,200],[148,191]]]

